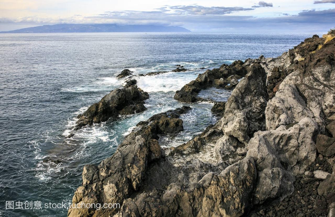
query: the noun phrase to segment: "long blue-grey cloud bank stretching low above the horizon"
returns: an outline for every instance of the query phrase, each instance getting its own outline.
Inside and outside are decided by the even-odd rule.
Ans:
[[[93,16],[44,17],[27,16],[16,19],[0,17],[0,23],[114,23],[120,25],[164,25],[182,26],[192,31],[269,31],[285,29],[286,31],[314,31],[314,29],[333,27],[335,9],[304,10],[296,15],[280,13],[281,16],[255,17],[237,16],[230,13],[248,11],[243,7],[204,7],[164,6],[153,11],[106,11]]]

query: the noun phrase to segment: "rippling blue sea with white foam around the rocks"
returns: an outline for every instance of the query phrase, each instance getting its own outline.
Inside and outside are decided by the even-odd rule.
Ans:
[[[182,115],[185,130],[160,139],[161,146],[182,144],[216,122],[210,103],[180,103],[176,90],[206,69],[247,58],[276,57],[313,33],[37,33],[0,34],[0,216],[66,216],[67,209],[45,203],[69,203],[81,185],[85,164],[111,156],[133,127],[154,114],[190,105]],[[136,77],[147,91],[148,108],[75,132],[76,116],[111,90],[123,69],[137,74],[191,71]],[[201,69],[205,68],[205,69]],[[230,91],[200,93],[226,101]],[[60,163],[43,162],[54,158]],[[42,209],[5,209],[40,201]],[[16,202],[19,202],[16,204]],[[38,203],[36,203],[38,204]],[[27,206],[28,207],[28,206]],[[30,208],[30,207],[28,207]],[[38,208],[35,203],[32,208]]]

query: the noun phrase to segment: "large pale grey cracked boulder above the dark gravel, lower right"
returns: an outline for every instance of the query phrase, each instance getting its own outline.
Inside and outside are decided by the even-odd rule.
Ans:
[[[288,129],[258,131],[249,141],[247,156],[253,157],[259,171],[279,167],[303,174],[316,159],[317,132],[317,123],[307,117]]]

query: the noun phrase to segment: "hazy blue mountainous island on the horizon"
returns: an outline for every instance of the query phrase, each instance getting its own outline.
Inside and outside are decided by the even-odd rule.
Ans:
[[[116,25],[116,24],[55,24],[1,31],[0,33],[60,33],[60,32],[190,32],[180,26]]]

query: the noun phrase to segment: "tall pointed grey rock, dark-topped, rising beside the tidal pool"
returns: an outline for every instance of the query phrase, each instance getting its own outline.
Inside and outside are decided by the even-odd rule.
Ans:
[[[225,135],[246,144],[256,131],[265,129],[264,111],[268,99],[265,82],[264,69],[260,64],[253,64],[225,103],[220,120]]]

